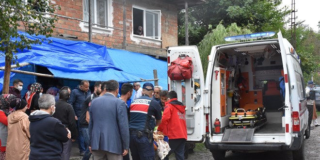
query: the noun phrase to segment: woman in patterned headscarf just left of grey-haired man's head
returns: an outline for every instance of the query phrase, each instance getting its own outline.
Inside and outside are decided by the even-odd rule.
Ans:
[[[28,103],[26,114],[30,115],[31,112],[34,110],[39,110],[39,93],[41,91],[41,84],[40,83],[33,83],[30,87],[30,90],[26,93],[26,101]]]

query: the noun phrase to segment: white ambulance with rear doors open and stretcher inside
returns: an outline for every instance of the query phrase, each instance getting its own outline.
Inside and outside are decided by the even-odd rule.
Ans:
[[[245,40],[275,32],[227,37]],[[169,90],[186,105],[188,142],[201,142],[215,160],[226,151],[291,150],[304,159],[310,136],[300,60],[287,39],[253,40],[213,46],[204,79],[196,46],[169,47],[168,66],[192,58],[192,78],[168,79]]]

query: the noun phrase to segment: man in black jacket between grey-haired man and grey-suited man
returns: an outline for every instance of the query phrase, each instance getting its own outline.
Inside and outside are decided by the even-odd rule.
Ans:
[[[63,143],[64,150],[61,154],[62,160],[70,159],[72,142],[76,141],[78,136],[75,114],[73,112],[72,106],[67,102],[69,96],[70,94],[67,90],[61,90],[59,92],[59,101],[56,102],[56,112],[55,114],[53,114],[54,118],[59,119],[61,123],[71,131],[72,140]]]

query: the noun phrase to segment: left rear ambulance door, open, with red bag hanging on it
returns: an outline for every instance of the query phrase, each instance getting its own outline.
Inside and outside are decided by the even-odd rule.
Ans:
[[[171,80],[168,77],[169,91],[176,91],[178,100],[186,105],[186,123],[189,142],[203,142],[205,133],[204,116],[204,76],[198,48],[196,46],[169,47],[167,49],[168,67],[178,57],[192,58],[192,78]]]

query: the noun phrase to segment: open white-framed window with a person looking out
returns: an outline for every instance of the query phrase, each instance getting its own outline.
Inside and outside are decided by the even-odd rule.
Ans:
[[[132,8],[133,33],[161,39],[161,11]]]

